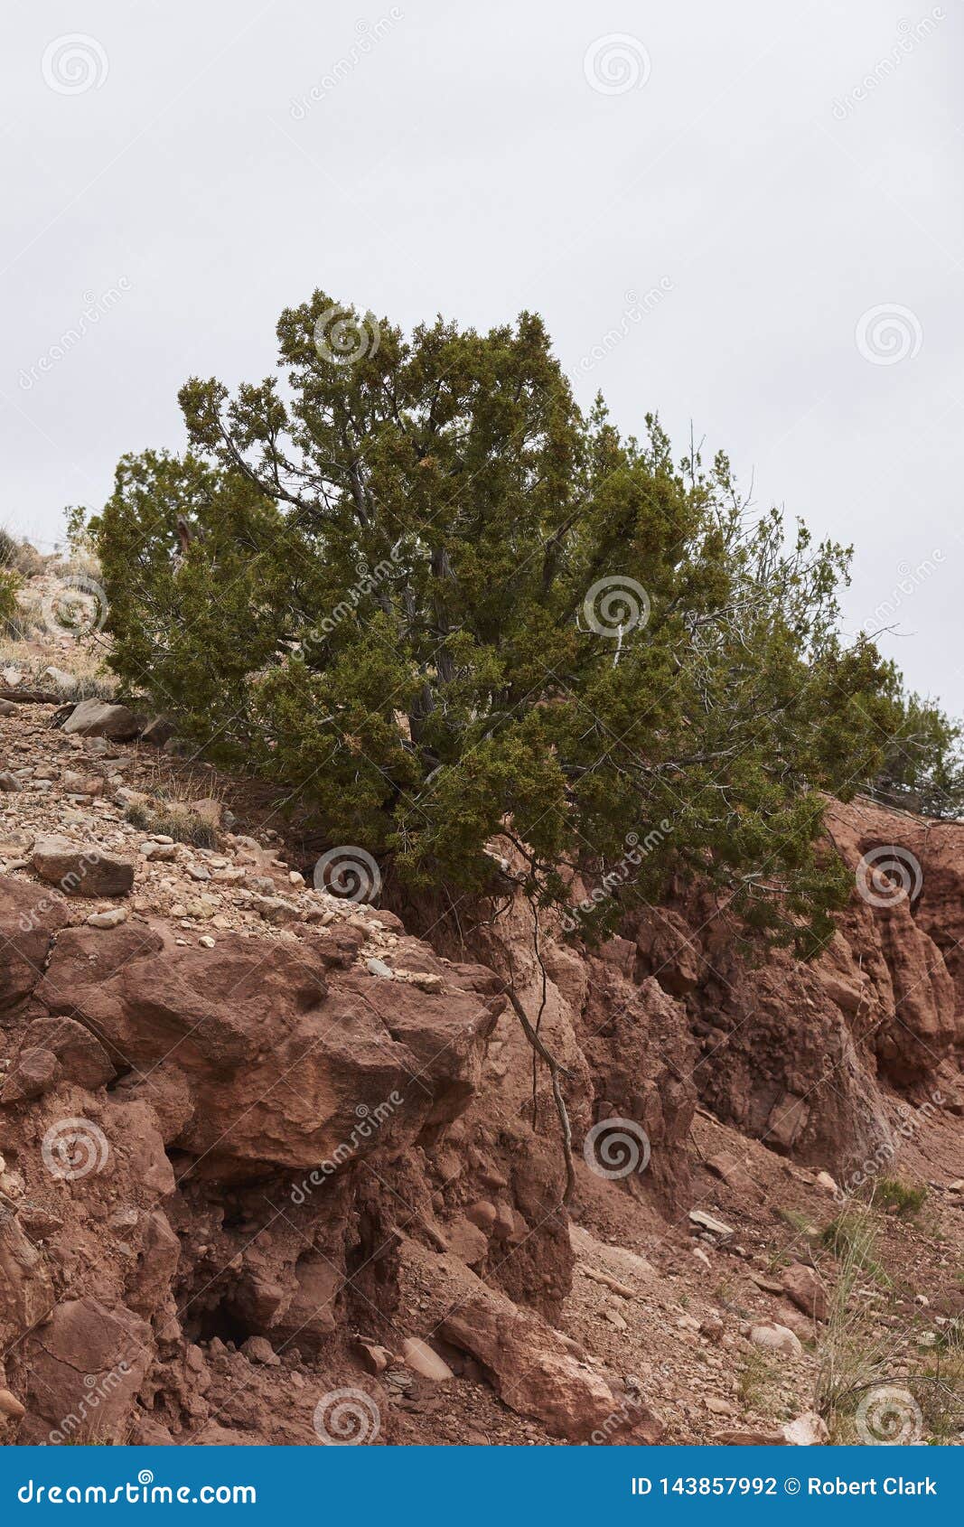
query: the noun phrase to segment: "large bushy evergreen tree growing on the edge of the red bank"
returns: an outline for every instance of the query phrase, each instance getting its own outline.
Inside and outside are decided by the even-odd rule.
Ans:
[[[506,832],[533,901],[607,887],[587,935],[695,872],[820,947],[822,793],[880,774],[900,696],[839,635],[848,551],[655,417],[585,417],[533,315],[332,312],[281,315],[281,379],[189,380],[183,458],[119,463],[89,528],[122,683],[412,887],[490,892]]]

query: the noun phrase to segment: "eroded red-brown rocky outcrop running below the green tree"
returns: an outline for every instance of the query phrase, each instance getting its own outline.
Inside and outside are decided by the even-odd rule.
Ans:
[[[562,1067],[576,1205],[597,1190],[730,1241],[689,1212],[698,1106],[775,1161],[839,1171],[891,1138],[895,1089],[930,1095],[961,1038],[953,829],[834,806],[830,831],[854,898],[810,967],[747,942],[698,889],[594,951],[552,927],[535,945],[510,907],[469,964],[391,913],[374,951],[357,909],[275,895],[287,870],[257,844],[255,895],[292,916],[192,941],[144,901],[89,925],[57,886],[0,875],[8,1440],[315,1441],[319,1396],[348,1388],[391,1441],[406,1353],[405,1383],[467,1374],[542,1438],[657,1440],[617,1359],[561,1333],[574,1246],[616,1299],[651,1269],[573,1237],[548,1075],[504,988]],[[903,898],[866,881],[882,846],[918,863]],[[753,1196],[735,1156],[706,1168]],[[827,1313],[808,1266],[778,1289],[791,1324]]]

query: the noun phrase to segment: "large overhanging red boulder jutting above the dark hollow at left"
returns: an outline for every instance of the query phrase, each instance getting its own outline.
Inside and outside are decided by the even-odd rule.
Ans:
[[[376,1145],[454,1119],[501,1006],[332,971],[325,944],[226,933],[185,948],[167,928],[69,928],[38,1000],[122,1055],[147,1101],[156,1066],[182,1073],[191,1112],[173,1144],[203,1157],[199,1171],[313,1170],[312,1196]]]

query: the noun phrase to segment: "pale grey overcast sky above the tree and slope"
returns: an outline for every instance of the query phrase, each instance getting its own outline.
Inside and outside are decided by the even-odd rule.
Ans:
[[[964,710],[961,12],[8,0],[0,522],[49,547],[189,374],[319,286],[539,310],[581,402],[691,420],[856,544],[848,629]],[[79,339],[78,339],[79,334]]]

